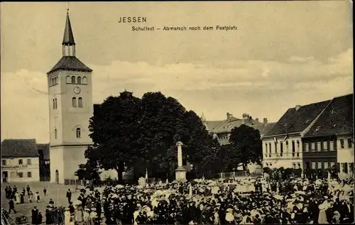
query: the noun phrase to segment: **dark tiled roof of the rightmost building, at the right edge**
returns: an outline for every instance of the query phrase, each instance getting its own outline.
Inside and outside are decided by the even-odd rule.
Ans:
[[[305,137],[354,133],[353,97],[348,94],[332,99]]]

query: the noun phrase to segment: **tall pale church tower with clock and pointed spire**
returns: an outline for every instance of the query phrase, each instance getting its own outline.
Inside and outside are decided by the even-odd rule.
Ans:
[[[92,145],[92,70],[75,57],[69,9],[62,41],[62,58],[47,73],[50,114],[50,181],[77,179],[84,150]]]

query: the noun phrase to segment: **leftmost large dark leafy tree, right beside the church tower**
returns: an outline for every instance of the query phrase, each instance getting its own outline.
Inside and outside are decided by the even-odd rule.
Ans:
[[[116,170],[119,181],[141,155],[137,145],[141,111],[141,99],[133,97],[132,92],[122,92],[119,97],[108,97],[90,119],[90,137],[99,154],[97,162],[105,170]]]

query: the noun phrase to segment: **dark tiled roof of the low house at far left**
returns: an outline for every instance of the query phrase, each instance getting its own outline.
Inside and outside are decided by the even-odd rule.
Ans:
[[[38,150],[35,139],[5,139],[1,143],[1,157],[38,157]]]

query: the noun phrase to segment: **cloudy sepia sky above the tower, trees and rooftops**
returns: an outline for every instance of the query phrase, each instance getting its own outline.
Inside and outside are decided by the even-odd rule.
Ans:
[[[349,1],[70,2],[93,101],[162,92],[207,120],[276,122],[295,105],[353,93]],[[62,56],[65,2],[1,2],[1,140],[49,142],[46,72]],[[146,23],[118,23],[144,16]],[[238,26],[131,31],[131,26]]]

